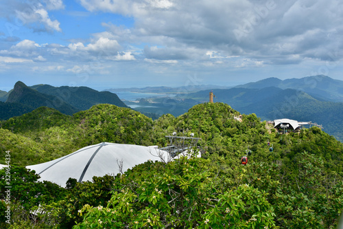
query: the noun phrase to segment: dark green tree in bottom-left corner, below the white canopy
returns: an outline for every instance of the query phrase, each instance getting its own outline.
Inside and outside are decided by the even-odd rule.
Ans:
[[[64,188],[47,181],[38,182],[39,175],[22,166],[1,169],[0,178],[0,199],[5,200],[0,204],[0,226],[8,225],[6,220],[10,220],[10,228],[33,227],[36,221],[44,228],[52,228],[58,223],[56,212],[49,204],[64,198]],[[7,206],[11,210],[10,219],[5,218]]]

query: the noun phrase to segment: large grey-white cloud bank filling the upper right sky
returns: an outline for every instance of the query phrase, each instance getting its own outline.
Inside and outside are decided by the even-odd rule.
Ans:
[[[146,58],[203,59],[200,51],[211,50],[207,54],[211,58],[246,56],[272,64],[280,60],[278,55],[288,58],[287,55],[302,53],[303,58],[326,58],[327,53],[318,52],[318,47],[332,50],[334,46],[343,46],[341,1],[80,0],[80,3],[90,11],[133,17],[134,28],[107,25],[108,32],[117,41],[143,41],[150,47],[164,47],[158,51],[144,50]],[[335,32],[337,28],[341,31]],[[309,31],[315,34],[310,35]],[[169,52],[180,47],[193,51]],[[275,61],[272,56],[276,56]]]

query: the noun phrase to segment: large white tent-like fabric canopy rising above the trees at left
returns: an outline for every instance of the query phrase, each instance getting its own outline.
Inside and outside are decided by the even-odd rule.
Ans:
[[[40,181],[47,180],[65,187],[69,177],[84,182],[91,181],[94,176],[115,175],[120,172],[120,162],[123,162],[122,172],[125,172],[148,160],[161,161],[158,154],[167,157],[168,153],[156,147],[102,142],[86,146],[56,160],[26,168],[36,171],[36,174],[40,175]]]

